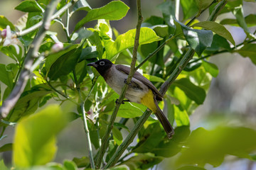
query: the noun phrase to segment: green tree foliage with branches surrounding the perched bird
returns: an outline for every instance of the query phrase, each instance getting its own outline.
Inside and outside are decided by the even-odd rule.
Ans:
[[[140,71],[165,94],[159,106],[176,127],[176,134],[169,140],[154,115],[147,119],[146,107],[137,103],[122,104],[117,113],[121,120],[110,125],[110,115],[119,96],[95,69],[87,67],[88,63],[102,58],[117,64],[132,62],[136,29],[119,34],[110,26],[110,21],[126,16],[129,7],[124,2],[111,1],[100,8],[91,8],[85,0],[55,1],[56,5],[53,5],[53,0],[22,1],[15,9],[26,12],[26,16],[21,17],[17,24],[0,16],[0,51],[12,60],[9,64],[0,64],[0,81],[4,84],[1,86],[4,89],[0,89],[0,141],[4,141],[7,126],[16,126],[14,142],[0,145],[0,152],[13,150],[15,169],[71,170],[80,167],[94,169],[95,166],[149,169],[174,157],[175,163],[170,164],[172,169],[202,170],[206,164],[220,166],[226,155],[255,159],[252,153],[256,149],[256,130],[223,126],[214,130],[198,128],[191,131],[189,120],[189,116],[205,101],[213,77],[218,76],[218,67],[209,62],[208,57],[237,52],[256,64],[255,33],[249,29],[256,26],[256,14],[244,16],[243,2],[189,0],[178,4],[164,1],[154,8],[161,11],[162,16],[144,18],[136,65],[143,63],[139,65]],[[255,3],[254,0],[250,2]],[[180,21],[176,18],[176,6],[182,8]],[[209,11],[208,20],[199,21],[198,16],[206,13],[206,9]],[[50,13],[50,10],[55,10],[55,13]],[[69,18],[78,11],[86,11],[87,15],[70,31]],[[222,13],[232,13],[234,17],[215,21]],[[65,22],[60,19],[64,16]],[[49,24],[62,26],[66,41],[60,42],[58,35],[48,30],[47,17],[50,18]],[[90,21],[97,21],[97,25],[83,27]],[[242,28],[247,35],[245,40],[235,44],[226,25]],[[29,63],[30,67],[27,67]],[[19,89],[18,93],[16,89]],[[18,98],[14,101],[16,95]],[[50,104],[52,101],[65,106],[64,109]],[[39,108],[42,109],[38,111]],[[140,116],[144,120],[139,119]],[[89,150],[85,155],[89,154],[89,157],[74,155],[72,161],[65,160],[63,164],[52,162],[57,150],[55,136],[68,125],[68,121],[77,118],[85,125]],[[134,120],[132,130],[126,126],[128,119]],[[112,127],[111,134],[105,136],[109,127]],[[132,135],[124,138],[121,130]],[[136,145],[128,147],[135,135],[138,137]],[[102,144],[100,139],[104,137],[107,143]],[[123,157],[122,149],[128,151]],[[106,166],[102,166],[100,157],[103,156]],[[0,169],[7,169],[3,161]]]

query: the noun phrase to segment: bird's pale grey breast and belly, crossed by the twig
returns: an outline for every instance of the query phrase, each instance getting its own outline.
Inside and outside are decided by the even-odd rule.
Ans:
[[[105,81],[115,92],[117,92],[117,94],[120,95],[122,92],[122,87],[124,86],[127,78],[127,74],[119,72],[119,70],[115,69],[115,67],[111,67],[107,73],[107,79],[105,79]],[[128,85],[125,98],[129,99],[129,101],[140,103],[141,98],[146,94],[147,91],[149,91],[149,88],[143,84],[142,81],[132,78],[131,83]]]

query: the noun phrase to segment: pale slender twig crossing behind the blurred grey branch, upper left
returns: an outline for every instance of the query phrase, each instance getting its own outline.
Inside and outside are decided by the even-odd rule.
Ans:
[[[58,18],[61,13],[64,13],[70,6],[75,4],[77,1],[78,0],[70,1],[68,4],[63,6],[63,8],[61,8],[59,11],[54,13],[53,16],[51,16],[50,20],[54,20],[55,18]],[[37,28],[40,28],[42,26],[42,24],[43,24],[43,21],[40,21],[39,23],[36,23],[34,26],[31,26],[30,28],[28,28],[26,30],[21,30],[20,32],[16,33],[16,35],[18,37],[20,37],[20,36],[26,35],[28,33],[31,33],[33,30],[36,30]]]

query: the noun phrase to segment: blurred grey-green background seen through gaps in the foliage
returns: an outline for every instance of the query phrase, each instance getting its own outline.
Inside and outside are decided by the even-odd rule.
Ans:
[[[0,15],[6,16],[12,23],[15,23],[18,18],[23,16],[24,13],[14,10],[21,1],[13,0],[0,0]],[[107,4],[110,1],[103,0],[87,0],[92,8],[97,8]],[[145,18],[149,16],[161,16],[160,11],[156,8],[162,1],[146,0],[142,1],[142,15]],[[130,7],[127,16],[121,21],[112,21],[110,24],[116,28],[119,33],[125,33],[127,30],[135,28],[137,24],[137,11],[136,1],[124,1]],[[181,10],[181,9],[180,9]],[[244,1],[245,16],[256,10],[255,3],[247,3]],[[77,13],[71,22],[77,23],[85,12]],[[182,18],[182,11],[180,13]],[[227,14],[225,14],[227,15]],[[200,18],[206,18],[208,11],[203,13]],[[219,18],[226,17],[220,15]],[[233,16],[229,16],[231,18]],[[200,20],[199,18],[199,20]],[[65,18],[63,18],[65,19]],[[218,18],[217,18],[218,21]],[[73,30],[75,24],[70,24],[70,29]],[[87,27],[94,27],[95,22],[90,22]],[[242,42],[246,35],[241,28],[226,27],[230,30],[236,44]],[[250,28],[252,32],[255,27]],[[58,23],[53,24],[52,31],[58,33],[58,38],[63,40],[65,37],[63,31],[60,29]],[[61,30],[61,31],[58,31]],[[0,63],[6,64],[12,62],[9,57],[0,53]],[[191,115],[191,130],[203,127],[207,130],[212,130],[218,125],[241,125],[248,128],[256,129],[256,67],[249,58],[243,58],[237,53],[216,55],[210,58],[218,66],[220,70],[218,77],[214,78],[208,91],[206,101],[202,106]],[[4,84],[1,84],[1,89],[5,89]],[[128,122],[127,126],[130,128],[133,125],[132,121]],[[6,143],[12,142],[12,135],[14,128],[10,126],[6,130],[9,134],[5,140]],[[238,134],[239,137],[239,134]],[[2,142],[1,141],[1,142]],[[256,142],[255,142],[256,143]],[[1,143],[4,145],[4,143]],[[256,144],[255,144],[256,145]],[[87,153],[85,146],[85,132],[83,130],[82,121],[75,120],[68,125],[58,137],[58,153],[56,155],[56,162],[63,162],[63,159],[73,159],[73,157],[82,157]],[[11,152],[4,152],[0,154],[4,157],[4,161],[8,164],[11,162]],[[169,159],[164,160],[156,169],[169,168]],[[256,163],[250,162],[248,159],[235,159],[235,157],[225,157],[225,163],[218,168],[213,166],[206,167],[207,169],[214,170],[235,170],[235,169],[256,169]]]

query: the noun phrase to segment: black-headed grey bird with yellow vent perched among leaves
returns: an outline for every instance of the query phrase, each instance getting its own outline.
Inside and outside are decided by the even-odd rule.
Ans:
[[[117,94],[122,93],[122,87],[127,84],[130,67],[122,64],[113,64],[110,60],[101,59],[91,62],[87,66],[95,67],[97,72],[105,79],[106,83]],[[158,118],[159,122],[166,131],[167,137],[171,139],[174,135],[174,128],[169,123],[164,113],[159,108],[157,101],[162,101],[163,96],[156,87],[139,72],[135,72],[125,94],[129,102],[141,103],[149,108]]]

